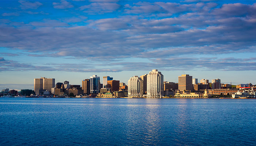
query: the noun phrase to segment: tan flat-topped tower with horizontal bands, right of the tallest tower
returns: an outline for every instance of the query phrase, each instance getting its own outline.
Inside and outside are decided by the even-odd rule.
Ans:
[[[178,76],[178,82],[178,89],[180,91],[193,90],[192,76],[189,76],[189,74],[182,74],[181,76]]]

